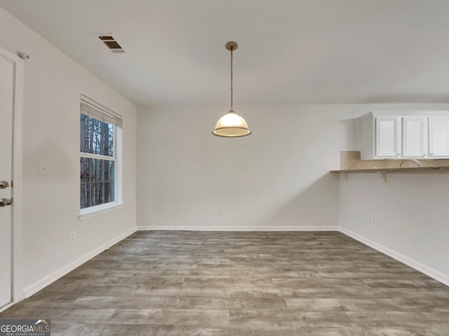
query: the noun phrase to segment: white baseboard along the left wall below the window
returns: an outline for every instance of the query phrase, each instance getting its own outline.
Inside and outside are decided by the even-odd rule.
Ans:
[[[84,262],[91,260],[96,255],[99,255],[103,251],[107,250],[109,247],[117,244],[119,241],[125,239],[129,235],[132,235],[135,231],[135,228],[132,228],[126,232],[123,232],[121,235],[107,241],[105,244],[98,246],[98,248],[95,248],[93,251],[82,255],[80,258],[70,262],[68,265],[61,267],[60,269],[56,269],[54,272],[51,272],[50,274],[44,276],[42,279],[39,279],[31,285],[25,287],[23,290],[25,297],[30,297],[34,293],[39,292],[39,290],[58,280],[60,277],[65,276],[65,274],[69,272],[72,272],[76,267],[83,265]]]

